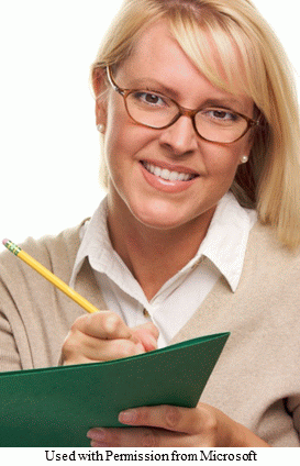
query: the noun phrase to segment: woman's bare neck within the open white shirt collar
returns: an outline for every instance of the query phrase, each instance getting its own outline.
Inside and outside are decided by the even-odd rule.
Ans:
[[[109,203],[108,226],[113,248],[148,300],[196,255],[213,211],[176,229],[162,230],[144,225],[129,209],[122,209],[121,214]]]

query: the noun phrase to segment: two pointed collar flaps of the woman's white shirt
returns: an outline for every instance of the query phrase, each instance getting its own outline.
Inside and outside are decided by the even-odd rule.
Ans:
[[[120,277],[120,267],[126,268],[112,247],[107,213],[108,203],[104,198],[89,223],[84,226],[82,241],[70,278],[73,288],[86,257],[95,269],[107,273],[112,278],[114,275]],[[248,233],[254,222],[254,211],[242,208],[231,192],[226,193],[215,209],[208,233],[196,256],[179,274],[187,273],[207,257],[227,280],[232,291],[235,291],[243,269]],[[134,282],[131,286],[134,286]]]

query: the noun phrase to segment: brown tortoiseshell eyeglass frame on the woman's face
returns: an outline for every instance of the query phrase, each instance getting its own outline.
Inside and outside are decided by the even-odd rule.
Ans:
[[[236,112],[235,110],[231,110],[231,109],[226,109],[225,107],[222,107],[222,109],[223,110],[230,110],[232,113],[234,113],[234,114],[236,114],[236,115],[238,115],[238,116],[241,116],[241,118],[243,118],[246,122],[247,122],[247,127],[245,129],[245,131],[242,133],[242,135],[241,136],[238,136],[236,140],[234,140],[234,141],[231,141],[231,142],[229,142],[229,143],[226,143],[226,142],[219,142],[219,141],[211,141],[211,140],[208,140],[207,137],[204,137],[204,136],[202,136],[200,133],[199,133],[199,131],[198,131],[198,129],[197,129],[197,125],[196,125],[196,120],[195,120],[195,116],[197,115],[197,113],[199,113],[200,111],[201,111],[201,107],[200,108],[197,108],[196,110],[190,110],[190,109],[186,109],[185,107],[181,107],[178,102],[176,102],[176,100],[174,100],[174,99],[171,99],[170,97],[167,97],[167,96],[164,96],[163,93],[160,93],[160,92],[156,92],[156,91],[154,91],[153,90],[153,92],[155,92],[155,93],[159,93],[160,96],[164,96],[164,97],[167,97],[173,103],[175,103],[175,106],[178,108],[178,113],[174,116],[174,119],[170,121],[170,123],[168,123],[168,124],[166,124],[166,125],[164,125],[164,126],[162,126],[162,127],[156,127],[156,126],[151,126],[149,124],[145,124],[145,123],[141,123],[140,121],[136,121],[132,115],[131,115],[131,113],[130,113],[130,111],[129,111],[129,108],[127,108],[127,102],[126,102],[126,99],[127,99],[127,96],[129,95],[131,95],[131,93],[133,93],[133,92],[137,92],[137,91],[141,91],[141,90],[146,90],[146,89],[126,89],[126,88],[121,88],[120,86],[118,86],[118,84],[115,82],[115,80],[113,79],[113,77],[112,77],[112,73],[111,73],[111,66],[107,66],[105,67],[107,68],[107,76],[108,76],[108,80],[109,80],[109,82],[110,82],[110,85],[112,86],[112,88],[118,92],[118,93],[120,93],[120,96],[122,96],[123,97],[123,99],[124,99],[124,104],[125,104],[125,109],[126,109],[126,112],[127,112],[127,114],[129,114],[129,116],[136,123],[136,124],[141,124],[141,126],[145,126],[145,127],[151,127],[151,129],[153,129],[153,130],[165,130],[165,129],[167,129],[167,127],[169,127],[169,126],[171,126],[174,123],[176,123],[178,120],[179,120],[179,118],[180,116],[189,116],[190,119],[191,119],[191,121],[192,121],[192,126],[193,126],[193,129],[195,129],[195,131],[196,131],[196,134],[198,134],[198,136],[201,138],[201,140],[204,140],[204,141],[208,141],[208,142],[210,142],[210,143],[215,143],[215,144],[233,144],[233,143],[235,143],[236,141],[240,141],[252,127],[254,127],[254,126],[259,126],[259,124],[260,124],[260,115],[259,115],[259,118],[257,119],[257,120],[254,120],[254,119],[252,119],[252,118],[249,118],[249,116],[247,116],[247,115],[244,115],[243,113],[238,113],[238,112]],[[152,92],[151,90],[149,90],[149,92]]]

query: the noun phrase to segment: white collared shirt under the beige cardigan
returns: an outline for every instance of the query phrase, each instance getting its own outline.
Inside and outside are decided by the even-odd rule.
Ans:
[[[129,326],[149,320],[158,328],[158,347],[166,346],[203,302],[221,275],[235,291],[242,274],[248,234],[256,212],[242,208],[232,193],[219,202],[208,233],[195,257],[147,300],[138,281],[113,249],[107,226],[107,199],[81,230],[70,286],[85,257],[109,310]]]

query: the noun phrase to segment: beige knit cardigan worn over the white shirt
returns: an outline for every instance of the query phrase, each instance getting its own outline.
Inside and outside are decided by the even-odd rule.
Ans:
[[[22,246],[68,282],[79,228]],[[300,257],[256,224],[233,293],[221,278],[174,341],[230,331],[201,400],[275,446],[299,446]],[[201,286],[201,284],[199,284]],[[86,262],[75,288],[105,309]],[[0,370],[56,365],[84,310],[11,253],[0,256]],[[184,312],[184,310],[182,310]]]

